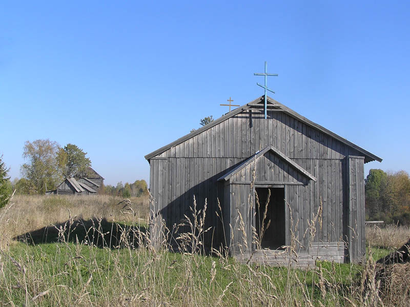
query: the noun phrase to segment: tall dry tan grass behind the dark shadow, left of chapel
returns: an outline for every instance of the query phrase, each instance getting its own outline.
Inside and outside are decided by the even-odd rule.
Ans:
[[[133,197],[128,203],[108,195],[15,195],[1,215],[0,247],[17,235],[66,222],[70,217],[147,223],[148,213],[148,197]]]

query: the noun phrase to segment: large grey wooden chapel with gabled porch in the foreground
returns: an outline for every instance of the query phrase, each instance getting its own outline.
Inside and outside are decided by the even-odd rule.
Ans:
[[[221,245],[240,258],[294,244],[300,255],[360,262],[363,165],[382,159],[270,97],[265,119],[263,98],[145,156],[152,240],[163,236],[161,221],[175,239],[195,196],[197,209],[207,199],[208,248]]]

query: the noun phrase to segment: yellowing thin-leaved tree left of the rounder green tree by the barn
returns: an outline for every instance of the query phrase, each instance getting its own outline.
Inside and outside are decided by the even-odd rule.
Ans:
[[[56,187],[61,177],[57,170],[57,152],[59,145],[49,139],[26,141],[23,148],[23,158],[28,160],[20,169],[29,184],[28,193],[44,194]]]

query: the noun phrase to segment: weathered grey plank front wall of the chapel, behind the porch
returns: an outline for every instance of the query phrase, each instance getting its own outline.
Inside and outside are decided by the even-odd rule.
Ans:
[[[260,181],[272,181],[275,177],[282,181],[301,180],[305,183],[286,185],[285,188],[292,217],[298,220],[295,232],[300,242],[303,242],[302,248],[308,245],[309,236],[303,237],[303,234],[308,222],[318,211],[320,201],[323,205],[323,224],[320,228],[317,222],[314,240],[340,241],[344,231],[342,221],[345,157],[359,153],[284,112],[268,111],[268,119],[264,119],[262,113],[242,111],[151,158],[150,190],[155,202],[151,209],[153,212],[160,212],[167,228],[172,231],[184,214],[190,214],[194,195],[198,209],[203,208],[207,198],[206,227],[215,227],[205,239],[210,242],[213,237],[214,243],[219,243],[223,237],[230,234],[227,229],[222,230],[219,217],[215,214],[219,212],[217,198],[222,202],[230,199],[231,203],[242,204],[248,201],[245,195],[249,195],[250,187],[231,185],[231,195],[228,197],[227,189],[218,185],[217,179],[252,154],[270,145],[318,179],[316,182],[309,181],[289,167],[283,171],[283,168],[286,168],[285,163],[281,167],[282,161],[275,155],[264,157],[265,160],[260,160],[257,167],[256,176]],[[244,181],[251,181],[251,175],[243,176]],[[240,198],[236,199],[235,196],[233,199],[232,195],[239,195]],[[223,203],[222,206],[224,207]],[[231,222],[238,218],[234,208],[226,210],[229,212],[223,212],[224,218],[230,216]],[[250,238],[250,217],[247,213],[249,212],[243,211],[242,219],[248,218],[244,223],[249,229],[247,236]],[[234,233],[234,236],[238,237],[239,234]]]

